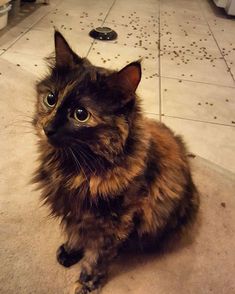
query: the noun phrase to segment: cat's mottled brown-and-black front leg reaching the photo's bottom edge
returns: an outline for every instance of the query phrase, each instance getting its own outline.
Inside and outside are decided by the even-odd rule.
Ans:
[[[100,293],[110,261],[117,255],[117,244],[85,251],[81,274],[74,294]]]

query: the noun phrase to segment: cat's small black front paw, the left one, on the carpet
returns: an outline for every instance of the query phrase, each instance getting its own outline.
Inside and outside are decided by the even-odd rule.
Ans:
[[[56,252],[56,257],[59,264],[63,265],[64,267],[70,267],[82,259],[83,251],[78,250],[68,252],[66,251],[65,246],[63,244],[58,248]]]

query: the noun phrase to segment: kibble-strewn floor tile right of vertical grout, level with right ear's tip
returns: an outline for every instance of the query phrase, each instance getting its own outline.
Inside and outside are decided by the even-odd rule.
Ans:
[[[223,58],[210,59],[177,52],[161,53],[161,75],[196,82],[235,86]]]

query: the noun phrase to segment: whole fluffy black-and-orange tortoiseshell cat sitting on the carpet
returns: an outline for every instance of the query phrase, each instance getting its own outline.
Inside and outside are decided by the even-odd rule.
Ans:
[[[55,32],[55,64],[37,85],[34,181],[67,233],[59,263],[82,259],[76,294],[101,287],[124,245],[157,246],[198,208],[185,146],[143,116],[140,79],[139,62],[118,72],[93,66]]]

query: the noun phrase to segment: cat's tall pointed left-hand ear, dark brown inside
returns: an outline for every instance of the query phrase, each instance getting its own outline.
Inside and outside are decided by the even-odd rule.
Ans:
[[[55,31],[55,61],[56,67],[73,67],[81,62],[81,58],[73,52],[68,42],[59,31]]]

